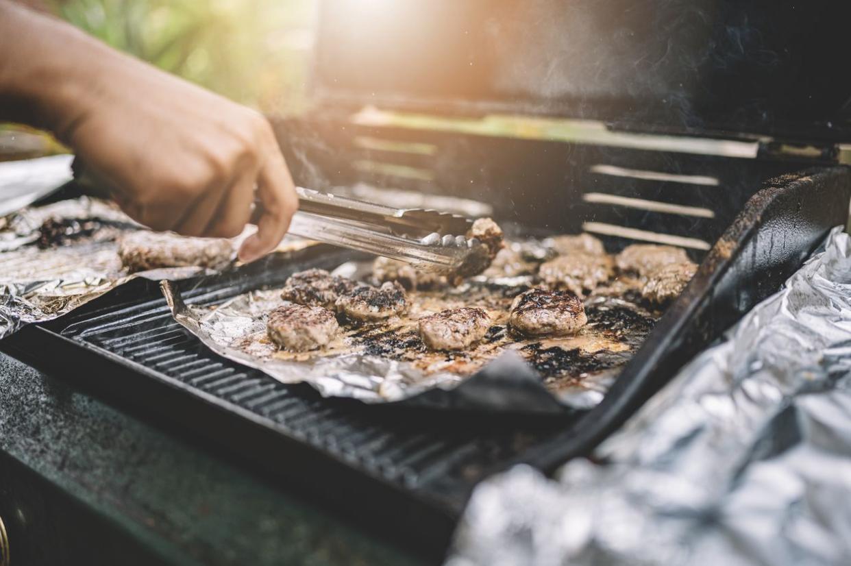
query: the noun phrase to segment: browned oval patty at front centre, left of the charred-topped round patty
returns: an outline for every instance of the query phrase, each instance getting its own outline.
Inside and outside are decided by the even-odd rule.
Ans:
[[[462,306],[420,318],[420,338],[432,350],[463,350],[482,340],[489,327],[487,312]]]

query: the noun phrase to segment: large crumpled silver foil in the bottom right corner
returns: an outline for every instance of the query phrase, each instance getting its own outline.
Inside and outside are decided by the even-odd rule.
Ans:
[[[851,238],[555,481],[474,492],[448,566],[851,563]]]

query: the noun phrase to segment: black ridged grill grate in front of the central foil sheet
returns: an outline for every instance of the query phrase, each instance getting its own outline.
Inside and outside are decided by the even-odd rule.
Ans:
[[[184,299],[211,304],[237,291],[193,289]],[[324,399],[308,386],[285,385],[208,351],[174,322],[164,300],[114,305],[70,321],[61,333],[66,337],[249,411],[277,432],[346,462],[352,473],[378,476],[431,500],[453,494],[458,508],[488,471],[563,426],[530,422],[506,429],[487,419],[454,426],[434,414],[408,418],[398,410]]]

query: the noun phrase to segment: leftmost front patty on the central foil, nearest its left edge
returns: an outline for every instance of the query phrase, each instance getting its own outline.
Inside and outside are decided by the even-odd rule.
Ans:
[[[284,305],[269,313],[266,333],[271,341],[292,352],[326,346],[340,325],[334,313],[320,306]]]

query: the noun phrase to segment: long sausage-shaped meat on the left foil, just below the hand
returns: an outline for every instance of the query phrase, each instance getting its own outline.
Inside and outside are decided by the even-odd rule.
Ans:
[[[186,266],[222,269],[233,259],[233,244],[224,238],[139,230],[121,238],[118,255],[129,272]]]

